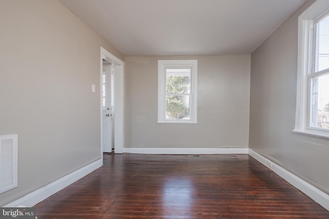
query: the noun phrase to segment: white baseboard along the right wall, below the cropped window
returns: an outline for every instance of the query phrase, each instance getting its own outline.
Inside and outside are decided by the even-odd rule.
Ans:
[[[319,205],[324,207],[329,211],[329,195],[315,188],[314,186],[306,183],[298,176],[290,173],[289,171],[283,169],[279,165],[271,162],[266,157],[260,155],[259,153],[249,149],[249,155],[255,158],[255,160],[259,161],[261,164],[277,173],[280,177],[284,178],[288,183],[305,193],[307,196],[312,198]]]

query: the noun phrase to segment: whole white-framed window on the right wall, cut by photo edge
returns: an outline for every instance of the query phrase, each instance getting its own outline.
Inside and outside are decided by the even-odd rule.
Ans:
[[[294,132],[329,138],[329,5],[319,0],[299,16]]]

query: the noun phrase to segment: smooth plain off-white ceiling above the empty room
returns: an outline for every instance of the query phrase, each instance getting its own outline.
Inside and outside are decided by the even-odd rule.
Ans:
[[[249,54],[306,0],[61,0],[123,55]]]

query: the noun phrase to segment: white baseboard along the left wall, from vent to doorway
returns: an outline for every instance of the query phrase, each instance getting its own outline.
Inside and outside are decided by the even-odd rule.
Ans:
[[[65,187],[71,185],[72,183],[80,180],[80,178],[84,177],[85,175],[93,172],[94,170],[100,168],[103,165],[102,158],[85,166],[81,169],[72,172],[59,180],[48,184],[47,186],[40,188],[34,192],[31,192],[30,194],[25,195],[22,198],[19,198],[18,200],[11,202],[7,204],[4,207],[18,207],[18,206],[26,206],[26,207],[32,207],[41,201],[45,200],[49,196],[53,195],[54,193],[64,189]]]

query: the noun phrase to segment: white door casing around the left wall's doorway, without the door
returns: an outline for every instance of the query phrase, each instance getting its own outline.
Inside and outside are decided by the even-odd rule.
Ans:
[[[124,62],[101,47],[100,55],[100,87],[102,87],[103,59],[114,66],[114,153],[123,153],[123,67]],[[103,107],[102,89],[100,89],[100,126],[101,157],[103,159]]]

